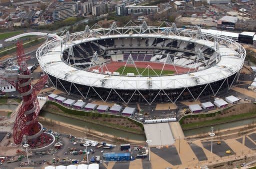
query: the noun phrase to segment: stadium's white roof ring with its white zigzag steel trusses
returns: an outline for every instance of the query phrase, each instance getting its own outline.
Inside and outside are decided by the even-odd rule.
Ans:
[[[95,26],[96,25],[93,27]],[[214,50],[214,61],[216,63],[211,66],[205,66],[204,69],[195,71],[192,73],[192,75],[190,73],[184,73],[171,76],[154,76],[150,77],[149,82],[149,77],[145,76],[106,76],[106,74],[103,74],[102,71],[101,73],[93,73],[81,70],[73,67],[72,65],[64,63],[61,59],[63,51],[67,50],[71,45],[89,42],[91,40],[118,37],[161,37],[164,39],[176,39],[186,42],[193,42],[202,46],[205,45]],[[61,36],[60,38],[63,40],[56,38],[45,42],[36,51],[36,57],[42,70],[48,75],[56,78],[56,81],[52,82],[52,84],[55,87],[57,87],[57,85],[61,85],[68,94],[70,94],[71,86],[73,86],[84,99],[88,97],[88,93],[90,91],[94,91],[99,98],[106,101],[110,96],[110,93],[115,92],[126,104],[130,102],[135,93],[139,93],[148,104],[151,104],[157,95],[152,99],[151,102],[149,102],[141,94],[142,90],[158,90],[158,93],[164,93],[169,101],[173,103],[177,101],[185,90],[187,90],[195,100],[199,98],[206,87],[210,87],[212,94],[216,95],[222,85],[227,82],[227,78],[229,76],[235,75],[235,78],[230,83],[231,85],[235,79],[237,79],[246,55],[244,48],[230,38],[225,36],[214,36],[210,33],[202,33],[200,29],[191,30],[177,28],[175,24],[172,24],[171,26],[167,25],[167,27],[157,27],[148,26],[146,22],[143,22],[141,26],[128,22],[126,26],[123,27],[118,27],[115,23],[113,23],[109,28],[98,27],[95,29],[90,29],[88,26],[86,26],[84,31],[71,34],[66,32],[66,35]],[[62,44],[64,44],[64,47],[62,47]],[[72,54],[70,53],[70,55]],[[98,58],[94,58],[95,61],[97,61]],[[206,63],[202,53],[200,53],[200,50],[195,61],[204,62],[206,65],[210,65],[210,60],[208,63]],[[168,57],[165,63],[169,64],[173,62],[171,58]],[[147,69],[149,69],[149,67],[147,67]],[[60,79],[70,82],[70,88],[65,88]],[[223,80],[223,83],[219,86],[219,89],[214,92],[211,87],[211,83],[219,80]],[[148,85],[149,83],[150,85]],[[87,93],[81,93],[76,84],[89,86]],[[189,87],[197,85],[205,85],[205,87],[198,96],[193,96],[189,90]],[[228,88],[230,88],[231,85],[228,85]],[[100,87],[110,90],[106,99],[103,99],[95,89]],[[165,92],[165,90],[168,89],[182,89],[182,92],[180,92],[179,96],[175,98],[175,100],[171,100]],[[127,101],[120,96],[117,90],[132,90],[134,92]]]

